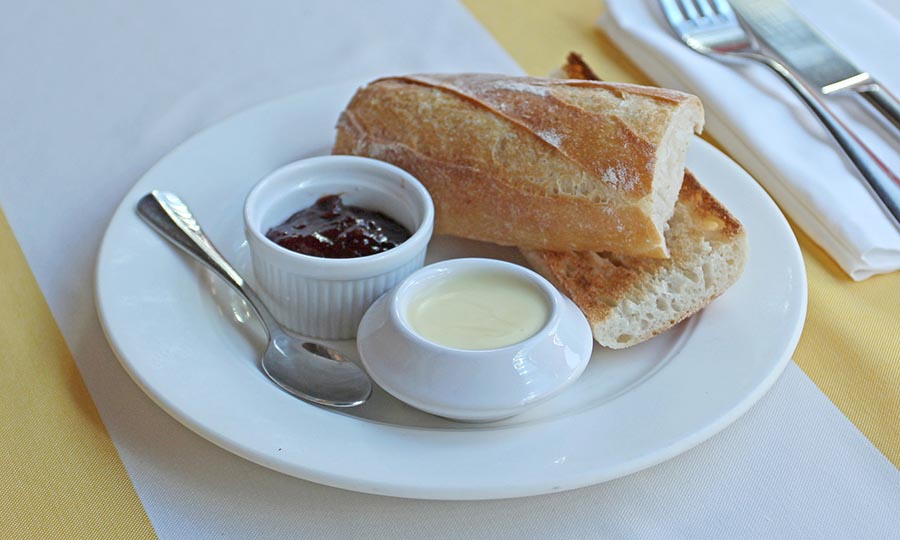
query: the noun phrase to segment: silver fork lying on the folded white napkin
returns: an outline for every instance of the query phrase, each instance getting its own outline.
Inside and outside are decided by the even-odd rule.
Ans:
[[[726,0],[659,0],[669,26],[685,45],[717,60],[759,62],[803,99],[866,180],[866,187],[900,231],[900,179],[872,153],[787,66],[766,54]]]

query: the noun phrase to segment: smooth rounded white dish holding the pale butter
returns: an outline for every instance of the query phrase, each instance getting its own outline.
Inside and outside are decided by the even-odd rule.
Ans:
[[[417,292],[459,272],[505,272],[547,296],[550,317],[530,338],[498,349],[446,347],[406,321]],[[428,265],[382,296],[359,326],[358,349],[372,379],[397,399],[431,414],[489,422],[519,414],[575,382],[591,358],[593,336],[584,314],[538,274],[493,259],[453,259]]]

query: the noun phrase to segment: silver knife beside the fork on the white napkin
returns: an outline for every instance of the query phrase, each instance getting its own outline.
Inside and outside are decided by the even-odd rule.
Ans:
[[[900,101],[856,67],[783,0],[733,0],[735,11],[760,40],[810,86],[825,95],[853,91],[900,130]]]

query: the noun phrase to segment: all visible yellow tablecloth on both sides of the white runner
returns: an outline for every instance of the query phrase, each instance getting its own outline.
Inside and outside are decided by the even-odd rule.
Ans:
[[[603,9],[594,0],[465,4],[528,73],[546,74],[575,50],[604,79],[649,82],[594,28]],[[854,283],[798,236],[810,301],[795,360],[900,467],[900,273]],[[2,213],[0,276],[0,538],[153,537]]]

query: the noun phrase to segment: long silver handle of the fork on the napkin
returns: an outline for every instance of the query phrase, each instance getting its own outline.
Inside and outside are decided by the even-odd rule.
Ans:
[[[894,227],[900,231],[900,179],[789,68],[762,54],[741,53],[741,56],[756,60],[771,68],[803,99],[803,102],[856,166],[866,180],[869,192],[875,196],[876,201],[881,204],[888,215],[893,217]]]

